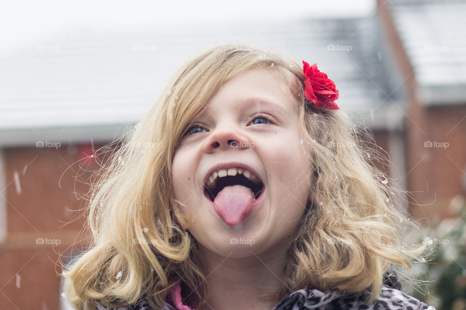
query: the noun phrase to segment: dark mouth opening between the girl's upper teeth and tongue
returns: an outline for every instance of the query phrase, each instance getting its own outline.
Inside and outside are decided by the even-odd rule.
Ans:
[[[224,177],[217,177],[214,184],[205,184],[204,185],[204,195],[211,201],[214,202],[217,194],[226,186],[233,186],[233,185],[242,185],[250,188],[250,190],[254,193],[254,200],[261,196],[262,192],[264,191],[264,184],[260,180],[256,180],[256,182],[251,181],[243,174],[236,174],[236,175],[227,175]]]

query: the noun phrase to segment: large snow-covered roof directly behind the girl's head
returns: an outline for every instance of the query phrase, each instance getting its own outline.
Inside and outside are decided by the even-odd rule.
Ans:
[[[0,145],[113,140],[141,119],[185,60],[238,42],[316,62],[335,81],[341,109],[366,112],[369,126],[396,126],[402,87],[379,31],[373,17],[64,30],[0,57]]]

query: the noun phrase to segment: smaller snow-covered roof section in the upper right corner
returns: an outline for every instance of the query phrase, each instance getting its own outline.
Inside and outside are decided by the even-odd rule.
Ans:
[[[391,12],[425,104],[466,102],[465,0],[392,0]]]

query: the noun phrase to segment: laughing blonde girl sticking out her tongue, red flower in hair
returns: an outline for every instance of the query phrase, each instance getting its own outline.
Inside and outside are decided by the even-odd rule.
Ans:
[[[91,189],[75,309],[430,309],[395,266],[414,225],[316,64],[221,45],[188,61]],[[122,307],[122,308],[121,308]]]

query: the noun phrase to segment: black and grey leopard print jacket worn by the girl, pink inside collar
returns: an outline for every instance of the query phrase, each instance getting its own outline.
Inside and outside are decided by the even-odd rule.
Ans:
[[[392,274],[389,274],[393,276]],[[156,310],[192,310],[181,303],[180,286],[171,291],[171,300],[175,302],[164,302],[161,309]],[[304,288],[288,295],[273,310],[435,310],[433,306],[428,306],[416,298],[404,294],[401,291],[401,284],[398,277],[392,279],[385,278],[382,292],[379,298],[372,304],[366,304],[365,300],[369,292],[361,294],[345,294],[342,291],[333,290],[323,292],[317,289]],[[176,306],[173,306],[175,304]],[[155,310],[150,308],[147,299],[141,300],[138,304],[123,308],[107,308],[96,302],[98,310]]]

